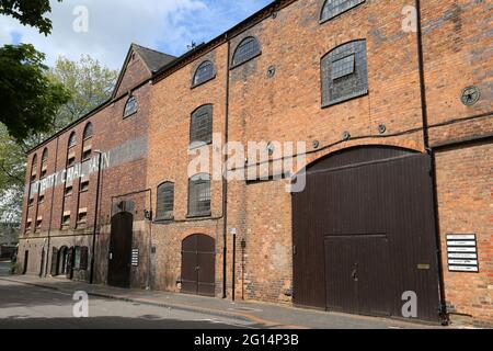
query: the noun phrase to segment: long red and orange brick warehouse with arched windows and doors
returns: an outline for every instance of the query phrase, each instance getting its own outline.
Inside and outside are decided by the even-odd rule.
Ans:
[[[100,283],[491,325],[491,10],[285,0],[175,59],[133,46],[28,155],[27,183],[90,171],[26,192],[22,270],[89,280],[95,251]]]

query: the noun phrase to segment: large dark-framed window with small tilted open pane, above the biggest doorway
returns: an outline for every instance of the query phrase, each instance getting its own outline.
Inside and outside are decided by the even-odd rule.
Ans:
[[[323,106],[368,93],[366,41],[334,48],[322,58],[321,69]]]

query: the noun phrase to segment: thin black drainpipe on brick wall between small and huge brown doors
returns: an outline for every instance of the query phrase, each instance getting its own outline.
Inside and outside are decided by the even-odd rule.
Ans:
[[[227,165],[228,165],[228,140],[229,140],[229,69],[230,69],[230,54],[231,43],[229,42],[228,34],[226,34],[226,41],[228,45],[227,64],[226,64],[226,110],[225,110],[225,158],[222,165],[222,298],[228,297],[227,293],[227,267],[228,267],[228,179],[226,178]]]

